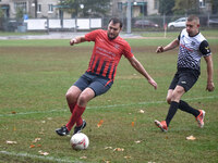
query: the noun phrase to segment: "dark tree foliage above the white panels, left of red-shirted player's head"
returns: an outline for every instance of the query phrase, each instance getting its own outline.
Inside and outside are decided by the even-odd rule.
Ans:
[[[83,16],[100,16],[106,15],[110,9],[109,0],[62,0],[60,2],[63,10],[71,13],[72,16],[77,16],[78,13]],[[83,8],[81,8],[83,7]]]

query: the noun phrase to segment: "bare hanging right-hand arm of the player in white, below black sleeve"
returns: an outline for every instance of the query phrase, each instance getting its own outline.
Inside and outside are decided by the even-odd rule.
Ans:
[[[207,63],[207,87],[206,87],[206,90],[214,91],[215,85],[214,85],[214,80],[213,80],[213,74],[214,74],[213,58],[211,58],[211,55],[208,55],[208,57],[205,57],[204,59]]]

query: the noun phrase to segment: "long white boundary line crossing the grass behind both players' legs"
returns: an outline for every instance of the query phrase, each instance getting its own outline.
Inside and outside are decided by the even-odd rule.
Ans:
[[[195,100],[204,100],[204,99],[215,99],[218,96],[213,97],[198,97],[198,98],[191,98],[184,99],[185,101],[195,101]],[[167,103],[166,101],[146,101],[146,102],[138,102],[138,103],[128,103],[128,104],[112,104],[112,105],[100,105],[100,106],[87,106],[86,109],[110,109],[110,108],[119,108],[119,106],[131,106],[131,105],[146,105],[146,104],[159,104],[159,103]],[[21,112],[16,114],[0,114],[0,117],[7,116],[14,116],[14,115],[28,115],[28,114],[41,114],[41,113],[52,113],[52,112],[66,112],[68,110],[57,109],[50,111],[39,111],[39,112]]]

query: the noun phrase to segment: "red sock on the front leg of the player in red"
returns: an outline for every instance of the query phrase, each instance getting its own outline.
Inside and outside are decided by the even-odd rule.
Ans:
[[[69,123],[65,125],[69,131],[72,129],[75,122],[82,120],[81,116],[82,116],[84,111],[85,111],[84,106],[78,106],[77,104],[75,104],[75,106],[73,109],[73,113],[71,115],[71,118],[70,118]],[[83,120],[82,120],[82,123],[83,123]]]

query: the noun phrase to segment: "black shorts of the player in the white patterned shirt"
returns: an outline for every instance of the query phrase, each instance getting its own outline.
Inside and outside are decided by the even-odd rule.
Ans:
[[[178,70],[170,84],[169,89],[174,89],[178,85],[189,91],[197,82],[199,72],[195,70]]]

